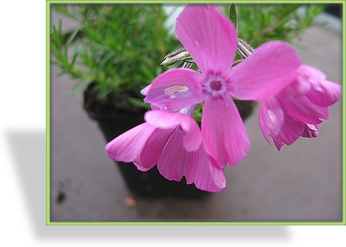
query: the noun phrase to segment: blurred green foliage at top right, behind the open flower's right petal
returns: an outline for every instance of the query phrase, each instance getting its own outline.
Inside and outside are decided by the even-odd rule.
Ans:
[[[238,4],[238,35],[256,48],[264,42],[292,43],[325,8],[321,4]]]

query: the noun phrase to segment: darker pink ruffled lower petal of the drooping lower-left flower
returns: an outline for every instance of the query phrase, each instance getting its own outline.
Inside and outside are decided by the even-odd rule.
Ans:
[[[197,152],[187,152],[181,145],[183,131],[176,129],[165,145],[157,163],[158,171],[169,180],[194,183],[201,190],[219,192],[226,187],[222,169],[213,166],[201,146]]]

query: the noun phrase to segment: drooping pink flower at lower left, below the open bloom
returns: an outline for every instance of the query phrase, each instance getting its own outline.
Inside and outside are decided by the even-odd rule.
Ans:
[[[107,144],[109,158],[134,162],[143,172],[157,163],[166,179],[181,181],[185,176],[201,190],[219,192],[226,187],[224,172],[210,164],[193,118],[157,110],[145,113],[145,120]]]

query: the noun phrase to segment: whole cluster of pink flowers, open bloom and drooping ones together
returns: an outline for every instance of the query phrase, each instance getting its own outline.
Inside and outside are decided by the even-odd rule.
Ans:
[[[157,165],[169,180],[194,183],[219,192],[226,186],[223,169],[237,165],[250,140],[233,98],[260,101],[259,124],[278,150],[300,136],[318,136],[321,119],[340,98],[340,85],[303,65],[284,42],[267,42],[232,67],[237,52],[233,23],[217,8],[187,6],[176,21],[176,35],[200,72],[175,68],[143,89],[153,111],[145,123],[111,140],[106,150],[116,161],[138,170]],[[191,117],[203,102],[201,128]]]

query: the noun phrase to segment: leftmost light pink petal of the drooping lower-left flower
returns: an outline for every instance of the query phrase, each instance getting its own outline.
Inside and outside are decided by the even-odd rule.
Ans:
[[[155,130],[156,127],[145,122],[114,138],[105,147],[109,158],[126,163],[135,161]]]

